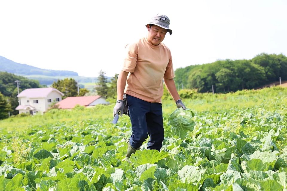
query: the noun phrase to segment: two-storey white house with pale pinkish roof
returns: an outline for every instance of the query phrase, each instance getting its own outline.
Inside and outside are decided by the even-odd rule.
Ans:
[[[52,87],[30,88],[23,90],[17,97],[20,99],[19,106],[16,110],[20,113],[43,113],[48,110],[52,102],[62,100],[64,94]]]

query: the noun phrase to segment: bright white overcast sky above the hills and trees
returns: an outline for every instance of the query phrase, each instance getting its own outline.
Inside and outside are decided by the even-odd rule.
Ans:
[[[174,70],[218,59],[287,54],[287,1],[0,1],[0,56],[79,76],[119,73],[126,44],[170,18]]]

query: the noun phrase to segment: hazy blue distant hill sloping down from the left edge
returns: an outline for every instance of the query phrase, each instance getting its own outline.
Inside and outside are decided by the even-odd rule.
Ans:
[[[16,63],[3,56],[0,56],[0,71],[6,71],[22,76],[43,75],[43,76],[79,76],[77,72],[66,70],[47,70],[27,64]]]

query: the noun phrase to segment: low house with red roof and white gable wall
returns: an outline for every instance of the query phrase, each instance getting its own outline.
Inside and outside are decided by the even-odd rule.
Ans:
[[[102,96],[79,96],[79,97],[68,97],[58,102],[59,109],[72,109],[76,105],[85,107],[95,106],[97,104],[110,104]]]

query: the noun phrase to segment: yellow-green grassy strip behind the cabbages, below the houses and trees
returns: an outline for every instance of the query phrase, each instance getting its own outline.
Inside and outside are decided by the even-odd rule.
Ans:
[[[186,107],[191,108],[197,115],[202,112],[216,112],[219,110],[247,109],[254,106],[264,104],[265,110],[274,111],[279,103],[287,103],[287,88],[273,87],[261,90],[242,90],[236,93],[214,94],[204,93],[199,94],[197,98],[183,99]],[[175,109],[174,101],[163,100],[163,115],[167,118]],[[52,124],[74,124],[82,120],[95,120],[104,118],[107,121],[113,119],[113,107],[110,105],[97,105],[91,108],[76,108],[74,110],[59,110],[49,111],[43,115],[36,114],[28,117],[14,117],[0,121],[0,129],[9,131],[25,131],[34,126],[52,125]],[[287,113],[287,111],[286,111]],[[123,118],[129,118],[123,116]],[[111,125],[107,123],[107,125]]]

